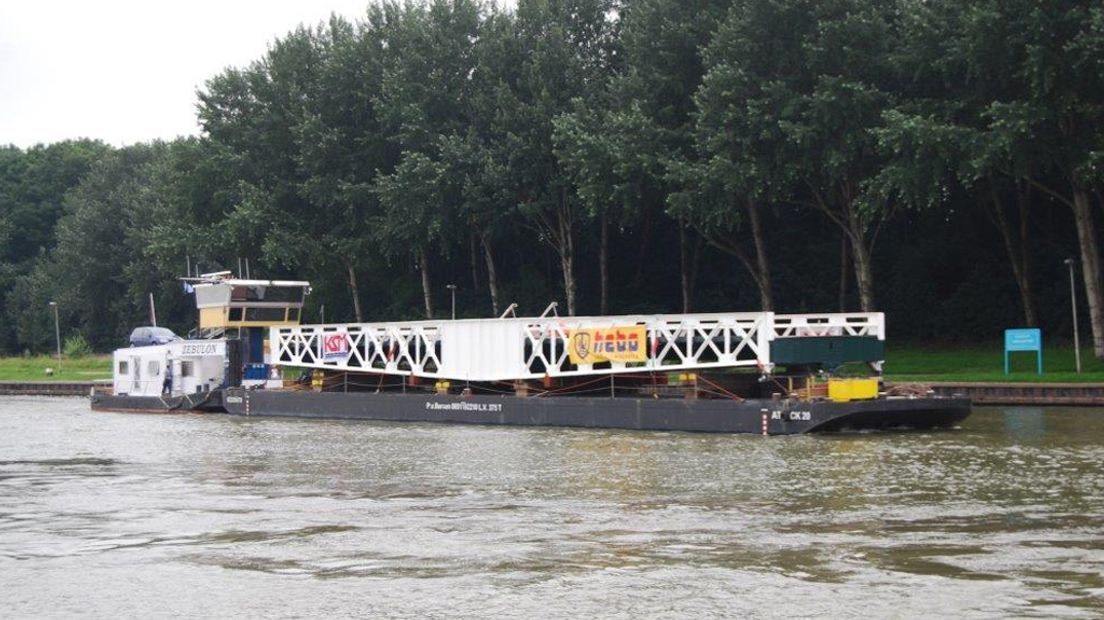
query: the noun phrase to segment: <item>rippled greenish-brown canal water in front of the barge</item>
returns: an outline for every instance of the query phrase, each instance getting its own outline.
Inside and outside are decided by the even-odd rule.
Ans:
[[[28,617],[1100,617],[1104,410],[753,437],[0,398]]]

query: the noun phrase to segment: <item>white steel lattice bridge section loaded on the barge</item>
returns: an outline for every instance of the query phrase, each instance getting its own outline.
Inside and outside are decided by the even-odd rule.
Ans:
[[[643,325],[643,362],[571,362],[573,330]],[[881,312],[629,314],[436,320],[270,329],[273,364],[457,381],[758,367],[769,373],[771,342],[822,335],[885,339]],[[327,344],[330,344],[329,346]]]

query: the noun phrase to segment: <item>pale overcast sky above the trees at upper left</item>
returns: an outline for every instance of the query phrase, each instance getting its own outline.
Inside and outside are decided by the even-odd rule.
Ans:
[[[195,89],[371,0],[0,0],[0,145],[199,133]]]

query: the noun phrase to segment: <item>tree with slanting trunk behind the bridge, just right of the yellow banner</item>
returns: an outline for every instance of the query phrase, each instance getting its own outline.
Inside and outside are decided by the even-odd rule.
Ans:
[[[681,172],[683,213],[744,266],[765,310],[774,308],[774,293],[762,212],[792,202],[804,175],[787,129],[803,122],[803,98],[813,88],[805,45],[815,25],[802,2],[733,8],[704,52],[708,74],[696,95],[700,160]],[[752,252],[741,227],[751,233]]]

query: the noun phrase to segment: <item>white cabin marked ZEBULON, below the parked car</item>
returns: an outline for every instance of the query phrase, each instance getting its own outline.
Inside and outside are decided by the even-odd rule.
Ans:
[[[225,340],[180,340],[117,349],[115,394],[182,396],[221,387],[226,376]]]

